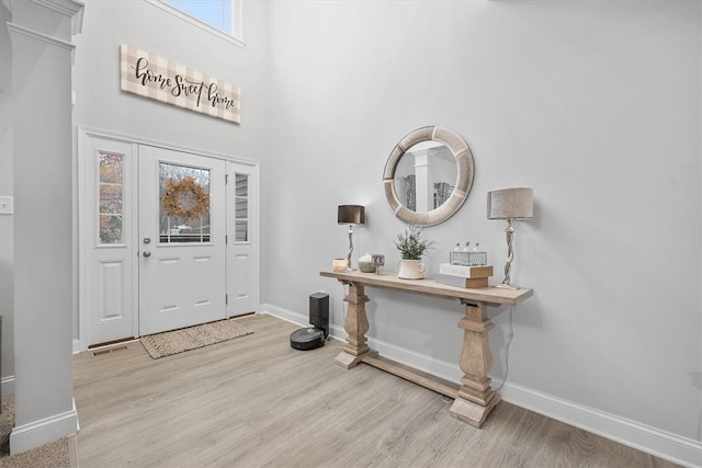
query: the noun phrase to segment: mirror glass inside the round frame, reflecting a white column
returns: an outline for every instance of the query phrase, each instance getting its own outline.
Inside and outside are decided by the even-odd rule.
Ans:
[[[439,141],[409,148],[395,171],[400,203],[412,212],[431,212],[449,201],[458,170],[451,150]]]

